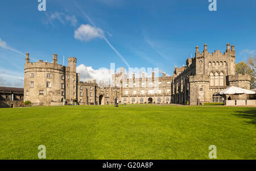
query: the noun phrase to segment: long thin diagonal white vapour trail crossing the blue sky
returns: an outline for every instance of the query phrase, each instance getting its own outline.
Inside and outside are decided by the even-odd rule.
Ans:
[[[76,1],[75,2],[75,5],[77,6],[77,8],[80,10],[80,12],[82,13],[82,15],[84,15],[85,19],[87,19],[89,21],[90,24],[92,24],[92,26],[94,28],[97,28],[96,27],[96,24],[93,23],[92,19],[90,19],[90,17],[84,12],[84,10],[81,9],[81,7],[78,5],[78,3]],[[110,48],[113,49],[113,51],[121,58],[121,60],[130,68],[130,65],[127,63],[127,61],[125,60],[125,58],[121,55],[121,53],[119,53],[117,51],[117,49],[115,49],[113,47],[113,45],[109,42],[109,40],[106,38],[106,36],[104,34],[101,35],[102,38],[106,41],[106,43],[108,43],[108,45],[110,46]]]

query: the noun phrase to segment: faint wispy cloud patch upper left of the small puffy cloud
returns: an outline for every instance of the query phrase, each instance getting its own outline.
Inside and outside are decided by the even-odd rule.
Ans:
[[[77,18],[75,15],[68,15],[64,14],[64,12],[57,11],[46,13],[46,19],[44,19],[44,23],[54,26],[53,22],[55,20],[59,20],[59,22],[62,24],[70,23],[71,26],[76,26],[77,24]]]

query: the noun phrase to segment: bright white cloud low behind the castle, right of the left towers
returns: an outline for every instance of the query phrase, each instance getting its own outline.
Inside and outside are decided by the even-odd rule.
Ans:
[[[96,81],[101,81],[102,83],[112,80],[112,76],[110,72],[110,69],[107,68],[100,68],[100,69],[93,69],[92,66],[85,66],[84,64],[81,64],[77,66],[76,72],[80,73],[81,81],[88,81],[96,79]]]

